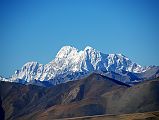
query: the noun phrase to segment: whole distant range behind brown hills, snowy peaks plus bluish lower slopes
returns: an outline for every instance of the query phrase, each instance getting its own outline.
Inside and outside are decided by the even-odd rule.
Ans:
[[[83,51],[64,46],[48,64],[28,62],[11,77],[0,77],[0,80],[50,86],[83,78],[92,72],[133,85],[158,77],[159,66],[142,67],[122,54],[104,54],[90,46]]]

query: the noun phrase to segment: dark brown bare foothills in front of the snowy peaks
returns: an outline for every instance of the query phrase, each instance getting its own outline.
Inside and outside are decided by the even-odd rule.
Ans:
[[[1,82],[0,92],[6,119],[51,120],[159,110],[159,79],[130,87],[94,73],[51,88]]]

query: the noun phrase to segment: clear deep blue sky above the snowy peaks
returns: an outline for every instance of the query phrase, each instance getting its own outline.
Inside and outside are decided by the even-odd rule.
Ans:
[[[159,65],[159,0],[0,0],[0,75],[64,45]]]

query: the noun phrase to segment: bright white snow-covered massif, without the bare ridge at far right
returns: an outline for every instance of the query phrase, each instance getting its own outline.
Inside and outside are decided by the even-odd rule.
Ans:
[[[148,69],[149,67],[142,67],[122,54],[104,54],[89,46],[83,51],[64,46],[50,63],[42,65],[38,62],[28,62],[21,70],[15,71],[9,81],[52,80],[53,84],[59,84],[93,71],[122,74],[123,71],[142,73]]]

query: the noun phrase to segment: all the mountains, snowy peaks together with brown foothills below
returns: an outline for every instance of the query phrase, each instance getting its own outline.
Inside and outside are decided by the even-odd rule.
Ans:
[[[158,93],[159,66],[64,46],[46,65],[28,62],[0,77],[0,119],[159,119]]]

